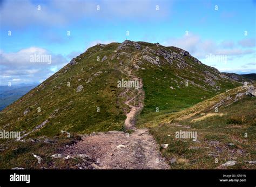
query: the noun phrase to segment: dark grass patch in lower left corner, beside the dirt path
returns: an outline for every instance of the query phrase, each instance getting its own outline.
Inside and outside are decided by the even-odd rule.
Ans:
[[[37,140],[44,140],[44,138],[39,138]],[[1,144],[1,148],[8,146],[8,149],[1,151],[0,169],[11,169],[16,167],[25,169],[55,169],[55,167],[58,169],[75,168],[77,163],[80,162],[79,160],[52,158],[51,155],[59,153],[59,148],[79,140],[79,136],[67,138],[64,137],[64,135],[60,135],[52,140],[55,142],[13,141],[8,144]],[[37,158],[33,157],[33,154],[42,158],[41,163],[38,163]]]

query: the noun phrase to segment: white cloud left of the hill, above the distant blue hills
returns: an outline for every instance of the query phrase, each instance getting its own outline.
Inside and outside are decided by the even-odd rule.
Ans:
[[[0,52],[1,85],[7,85],[9,81],[14,84],[38,83],[40,80],[47,79],[49,75],[52,75],[68,63],[68,60],[61,54],[53,54],[40,47],[29,47],[12,53],[6,53],[3,50]],[[51,56],[51,64],[44,62],[31,63],[30,57],[33,54]]]

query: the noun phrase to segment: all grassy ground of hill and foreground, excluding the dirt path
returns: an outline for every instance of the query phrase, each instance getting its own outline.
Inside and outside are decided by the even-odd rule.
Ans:
[[[254,159],[255,154],[255,100],[244,97],[223,106],[225,98],[231,96],[227,100],[231,104],[246,88],[177,47],[129,40],[91,47],[3,109],[0,130],[21,131],[23,137],[21,141],[0,140],[0,168],[76,168],[79,159],[53,161],[50,156],[60,147],[75,143],[79,134],[125,130],[125,114],[130,111],[125,102],[138,91],[119,88],[117,81],[136,77],[142,79],[145,96],[137,125],[150,128],[160,144],[170,144],[163,154],[177,159],[171,168],[216,168],[218,164],[207,156],[216,151],[216,146],[209,144],[215,140],[219,141],[218,150],[223,150],[219,163],[231,154],[239,162],[235,167],[252,168],[245,161]],[[223,99],[219,112],[214,113],[214,106]],[[197,130],[201,143],[177,141],[173,133],[180,129]],[[245,132],[248,138],[242,139]],[[234,149],[226,149],[227,142],[233,142]],[[41,164],[32,153],[43,158]]]

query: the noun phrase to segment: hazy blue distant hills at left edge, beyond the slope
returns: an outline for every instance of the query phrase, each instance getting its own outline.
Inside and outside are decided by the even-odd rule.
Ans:
[[[28,93],[33,86],[0,86],[0,111]]]

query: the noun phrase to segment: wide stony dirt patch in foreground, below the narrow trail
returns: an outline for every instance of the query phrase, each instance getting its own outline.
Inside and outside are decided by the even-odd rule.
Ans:
[[[109,131],[84,136],[65,155],[88,155],[95,169],[169,169],[148,129],[132,134]]]

